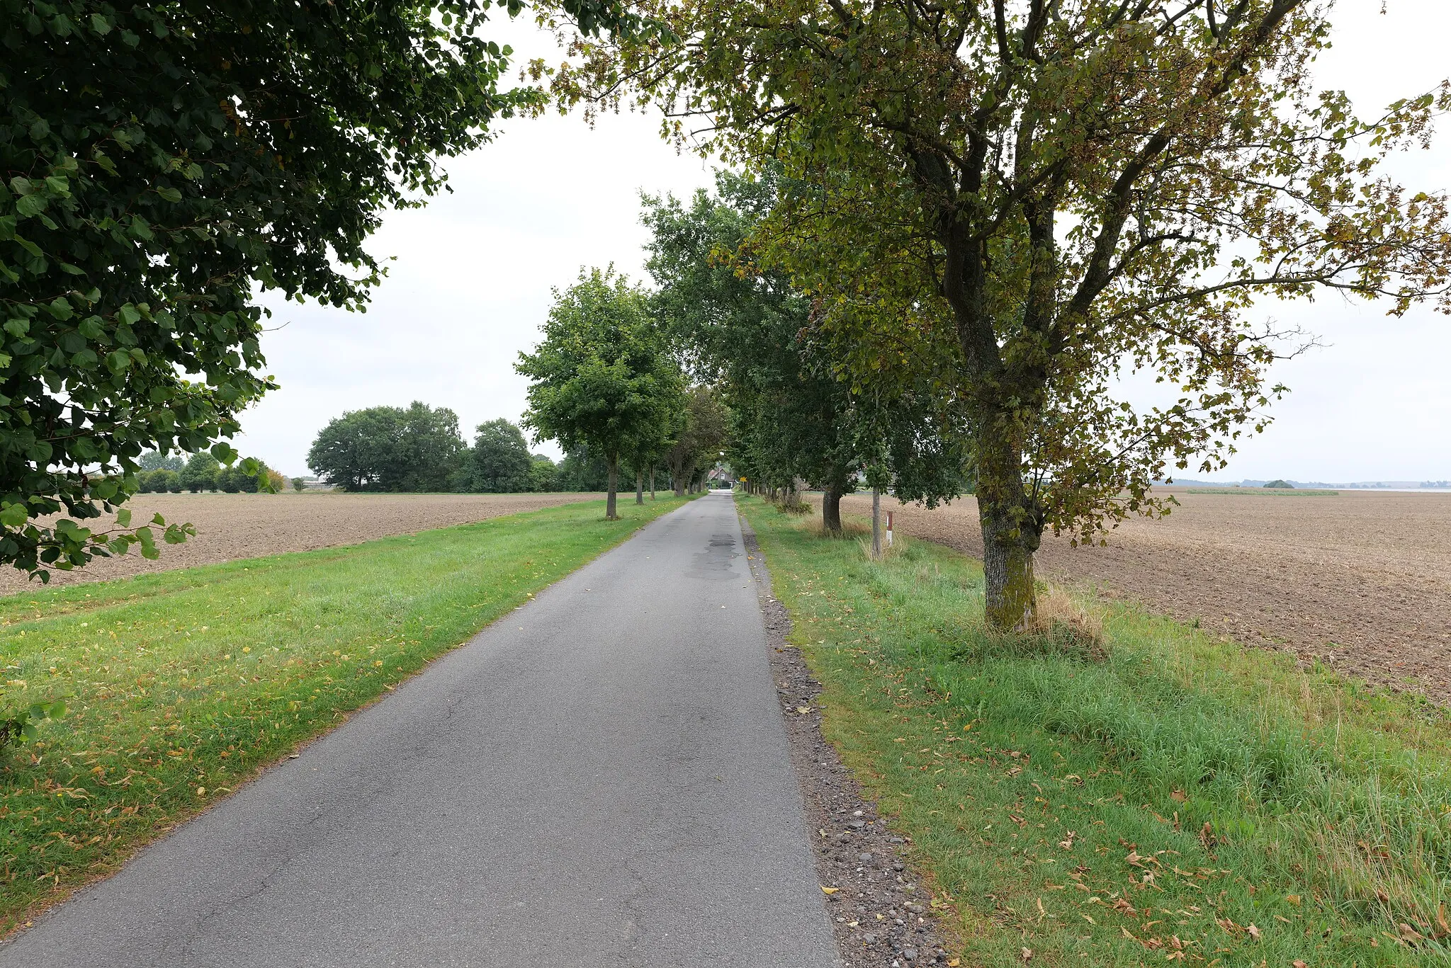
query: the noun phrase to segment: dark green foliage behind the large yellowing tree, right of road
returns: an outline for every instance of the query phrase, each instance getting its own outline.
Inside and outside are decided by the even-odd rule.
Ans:
[[[839,360],[814,334],[811,300],[784,271],[760,266],[752,235],[778,186],[773,173],[721,173],[715,197],[698,192],[688,208],[644,199],[656,311],[695,376],[718,382],[730,405],[728,434],[712,430],[708,450],[728,438],[736,473],[770,488],[801,477],[842,493],[865,466],[907,499],[961,493],[966,454],[950,414],[929,395],[884,398],[839,379]]]

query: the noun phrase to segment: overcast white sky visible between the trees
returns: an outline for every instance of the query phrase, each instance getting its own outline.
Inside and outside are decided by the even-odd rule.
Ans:
[[[1451,73],[1451,3],[1389,0],[1386,16],[1380,7],[1341,0],[1335,49],[1319,65],[1322,84],[1347,89],[1362,115]],[[495,36],[525,55],[551,49],[524,23]],[[537,343],[550,289],[582,266],[643,276],[638,192],[686,196],[712,180],[708,164],[659,139],[653,116],[608,116],[593,129],[550,116],[498,131],[492,145],[448,163],[453,194],[385,219],[370,251],[396,261],[367,313],[268,300],[279,328],[263,348],[281,389],[244,415],[242,453],[306,475],[328,419],[415,399],[454,409],[470,440],[483,421],[517,421],[525,382],[512,364]],[[1451,125],[1442,131],[1431,152],[1397,164],[1410,187],[1451,187]],[[1328,345],[1278,367],[1293,392],[1274,425],[1216,477],[1451,477],[1451,319],[1429,309],[1389,319],[1335,296],[1265,312]]]

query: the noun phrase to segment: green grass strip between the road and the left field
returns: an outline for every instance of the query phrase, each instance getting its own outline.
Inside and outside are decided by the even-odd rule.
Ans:
[[[0,935],[683,504],[479,524],[0,598]]]

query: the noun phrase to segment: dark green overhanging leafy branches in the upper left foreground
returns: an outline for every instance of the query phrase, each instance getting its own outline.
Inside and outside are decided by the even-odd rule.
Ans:
[[[0,562],[123,550],[36,518],[115,509],[148,448],[235,457],[276,386],[257,293],[361,308],[382,212],[538,102],[501,90],[493,7],[522,3],[0,0]]]

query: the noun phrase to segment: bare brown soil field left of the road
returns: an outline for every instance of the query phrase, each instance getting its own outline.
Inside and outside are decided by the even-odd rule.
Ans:
[[[148,562],[139,549],[73,572],[51,572],[51,585],[96,582],[173,567],[212,565],[280,551],[357,544],[521,511],[538,511],[593,493],[141,493],[126,502],[132,521],[160,512],[168,522],[190,521],[196,537],[163,544]],[[106,527],[100,518],[93,527]],[[0,570],[0,595],[35,588],[23,572]]]

